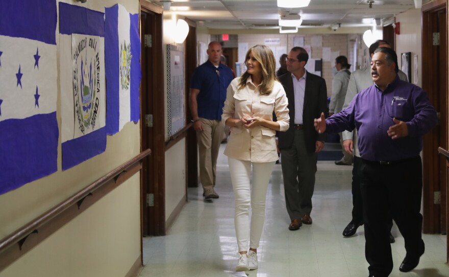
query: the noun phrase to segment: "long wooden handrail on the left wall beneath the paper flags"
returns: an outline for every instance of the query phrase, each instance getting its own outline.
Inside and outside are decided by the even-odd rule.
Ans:
[[[59,203],[52,209],[48,210],[41,216],[35,218],[28,224],[23,225],[22,227],[18,228],[13,232],[11,235],[7,236],[6,238],[2,239],[0,241],[0,253],[7,250],[8,248],[14,246],[16,243],[18,243],[19,248],[21,249],[21,244],[23,244],[24,240],[26,238],[33,234],[37,233],[37,230],[39,227],[47,223],[48,221],[52,220],[53,218],[57,217],[59,214],[67,210],[69,207],[73,205],[78,205],[78,209],[80,208],[82,202],[84,199],[91,195],[92,192],[97,190],[98,188],[102,187],[105,183],[108,181],[114,180],[114,182],[117,182],[117,179],[120,177],[120,175],[124,172],[127,172],[127,169],[131,166],[135,165],[136,163],[140,163],[140,160],[144,157],[151,154],[151,149],[147,149],[134,158],[130,159],[126,163],[122,164],[121,166],[117,167],[113,171],[109,172],[105,176],[99,178],[86,188],[82,189],[81,191],[77,192],[76,194],[72,195],[71,197],[67,198],[65,201]]]

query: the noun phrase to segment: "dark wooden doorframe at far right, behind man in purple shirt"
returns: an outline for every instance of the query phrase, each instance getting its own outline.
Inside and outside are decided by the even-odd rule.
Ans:
[[[440,114],[439,125],[423,140],[423,232],[446,232],[446,169],[437,149],[447,149],[447,16],[446,0],[422,6],[422,88]],[[440,33],[440,46],[433,45],[433,33]],[[440,192],[441,203],[434,203]]]

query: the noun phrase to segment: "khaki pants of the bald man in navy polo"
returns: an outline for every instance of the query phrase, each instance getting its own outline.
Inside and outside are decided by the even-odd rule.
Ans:
[[[199,152],[199,180],[204,190],[215,186],[218,151],[223,139],[223,124],[220,120],[199,119],[204,131],[196,131]]]

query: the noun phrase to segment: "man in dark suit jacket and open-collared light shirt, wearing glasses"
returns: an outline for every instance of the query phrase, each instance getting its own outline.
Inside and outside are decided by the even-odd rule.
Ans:
[[[288,98],[290,128],[278,133],[281,167],[290,230],[312,224],[312,195],[318,152],[324,147],[326,134],[318,134],[313,119],[327,109],[325,79],[306,71],[309,55],[301,47],[288,53],[288,74],[279,77]]]

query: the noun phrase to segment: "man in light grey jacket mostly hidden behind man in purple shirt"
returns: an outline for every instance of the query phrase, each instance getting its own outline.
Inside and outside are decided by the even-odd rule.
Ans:
[[[390,47],[390,44],[386,40],[377,40],[369,46],[369,59],[374,55],[374,51],[379,47]],[[397,73],[399,78],[407,82],[407,75],[401,70]],[[346,97],[343,104],[343,109],[350,105],[354,96],[365,88],[373,85],[371,76],[371,67],[366,66],[360,68],[351,74],[351,78],[348,83]],[[357,130],[354,131],[343,131],[343,146],[346,152],[354,153],[354,167],[353,167],[353,181],[352,181],[352,194],[353,194],[353,211],[352,220],[343,230],[344,237],[354,236],[357,232],[357,228],[363,225],[363,203],[362,196],[360,194],[360,152],[357,147]],[[391,216],[389,216],[389,229],[391,230],[393,222]],[[394,243],[394,237],[390,232],[390,243]]]

